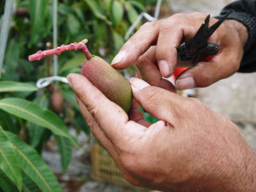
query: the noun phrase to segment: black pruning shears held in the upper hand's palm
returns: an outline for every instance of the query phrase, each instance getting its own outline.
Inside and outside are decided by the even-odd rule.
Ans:
[[[208,38],[227,18],[229,13],[221,17],[215,24],[209,28],[210,15],[206,17],[203,24],[200,26],[196,35],[177,48],[180,61],[191,60],[193,65],[200,61],[207,61],[220,51],[220,45],[208,41]]]

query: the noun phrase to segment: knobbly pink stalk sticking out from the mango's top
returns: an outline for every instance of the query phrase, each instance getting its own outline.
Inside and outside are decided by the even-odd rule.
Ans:
[[[83,41],[81,41],[79,43],[74,42],[73,44],[69,44],[69,45],[61,45],[60,47],[57,47],[56,49],[38,51],[35,54],[31,54],[28,57],[28,60],[29,61],[41,60],[42,58],[51,56],[53,54],[59,55],[59,54],[61,54],[61,52],[79,50],[79,49],[81,49],[81,51],[84,53],[86,58],[88,60],[90,60],[92,58],[92,54],[90,53],[90,51],[87,49],[87,47],[85,45],[87,42],[88,42],[88,40],[84,39]]]

